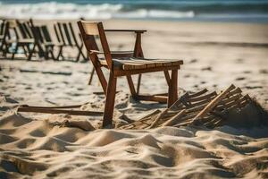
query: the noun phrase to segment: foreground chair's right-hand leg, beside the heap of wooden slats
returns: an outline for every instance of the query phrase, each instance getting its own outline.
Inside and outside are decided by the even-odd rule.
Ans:
[[[178,70],[172,70],[172,79],[169,85],[168,107],[178,99]]]

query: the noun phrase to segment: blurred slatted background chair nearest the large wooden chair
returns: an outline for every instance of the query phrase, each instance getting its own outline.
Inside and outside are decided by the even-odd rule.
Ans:
[[[63,48],[64,47],[72,47],[76,48],[78,51],[78,54],[76,55],[75,61],[78,62],[80,60],[80,56],[84,61],[88,59],[86,55],[83,54],[83,43],[82,40],[78,40],[76,34],[74,33],[74,30],[72,28],[71,22],[57,22],[54,24],[54,32],[56,35],[56,38],[58,40],[58,43],[61,44],[59,46],[59,52],[58,55],[56,55],[55,59],[59,60],[60,57],[64,59],[63,56]]]

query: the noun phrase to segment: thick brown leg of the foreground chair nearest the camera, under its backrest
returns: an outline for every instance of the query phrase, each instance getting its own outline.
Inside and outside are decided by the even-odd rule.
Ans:
[[[116,92],[116,77],[113,76],[113,73],[110,72],[109,82],[106,90],[106,101],[105,101],[105,114],[103,127],[111,126],[113,123],[113,107],[114,107],[114,98]]]

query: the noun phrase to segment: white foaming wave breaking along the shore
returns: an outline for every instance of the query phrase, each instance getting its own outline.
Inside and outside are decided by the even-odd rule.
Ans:
[[[5,18],[35,19],[139,19],[139,18],[191,18],[193,11],[165,11],[154,9],[133,9],[125,11],[123,4],[0,4],[0,16]]]

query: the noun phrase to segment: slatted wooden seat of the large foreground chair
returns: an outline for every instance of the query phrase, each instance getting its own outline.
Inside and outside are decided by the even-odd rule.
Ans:
[[[105,59],[99,59],[100,64],[107,65]],[[148,69],[161,66],[180,66],[183,64],[182,60],[171,59],[148,59],[148,58],[113,58],[113,69],[115,70],[138,70]]]

